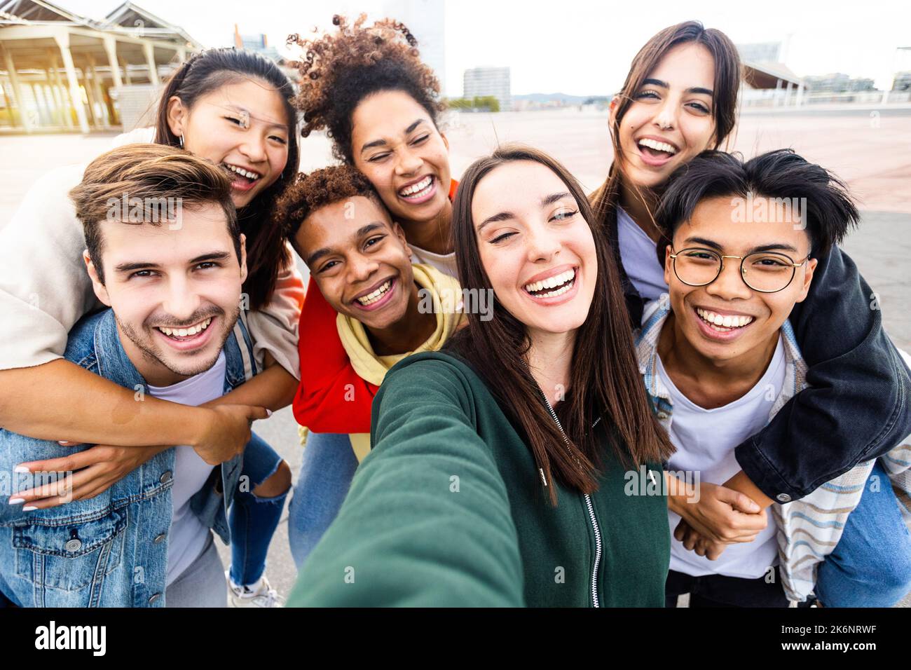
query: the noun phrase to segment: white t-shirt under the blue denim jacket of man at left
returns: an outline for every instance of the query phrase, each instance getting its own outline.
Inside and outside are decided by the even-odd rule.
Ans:
[[[224,395],[225,353],[205,372],[169,387],[148,386],[153,397],[196,407]],[[174,511],[168,534],[168,582],[173,582],[200,557],[209,539],[209,529],[189,509],[189,499],[196,495],[212,472],[192,447],[175,447],[174,485],[171,502]]]

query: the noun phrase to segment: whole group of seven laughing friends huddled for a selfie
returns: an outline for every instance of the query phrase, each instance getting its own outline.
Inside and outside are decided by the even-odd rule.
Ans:
[[[790,149],[723,151],[727,36],[642,47],[587,195],[522,145],[454,180],[414,36],[333,23],[292,36],[296,90],[192,57],[155,129],[38,180],[0,232],[0,601],[281,604],[292,476],[250,427],[289,404],[289,604],[911,591],[911,374],[837,246],[858,212]],[[337,164],[298,172],[299,117]]]

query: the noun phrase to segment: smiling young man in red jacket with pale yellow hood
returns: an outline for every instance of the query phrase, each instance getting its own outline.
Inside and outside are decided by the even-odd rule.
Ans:
[[[299,175],[277,216],[310,268],[311,290],[324,298],[308,297],[301,316],[302,361],[310,363],[293,403],[298,423],[312,431],[289,509],[300,567],[370,449],[371,406],[386,372],[405,356],[438,350],[464,314],[459,283],[413,264],[402,226],[356,168]]]

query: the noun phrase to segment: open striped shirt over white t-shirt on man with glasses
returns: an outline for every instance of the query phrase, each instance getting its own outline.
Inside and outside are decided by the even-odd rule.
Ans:
[[[665,300],[648,304],[642,317],[642,327],[636,333],[636,356],[650,402],[660,424],[670,430],[673,403],[667,387],[657,373],[658,339],[661,327],[670,314]],[[784,384],[769,412],[771,421],[782,407],[807,387],[807,365],[793,334],[785,321],[781,330],[784,340]],[[904,353],[904,352],[903,352]],[[906,355],[905,355],[906,356]],[[911,441],[894,446],[882,458],[885,471],[899,500],[908,500],[911,492]],[[850,448],[851,445],[848,445]],[[875,459],[825,482],[818,489],[786,505],[774,503],[772,513],[777,524],[778,557],[782,586],[788,600],[803,602],[813,591],[816,568],[831,553],[844,531],[848,514],[857,507]],[[749,474],[749,473],[748,473]],[[714,484],[723,482],[715,481]],[[905,522],[911,522],[911,510],[899,505]]]

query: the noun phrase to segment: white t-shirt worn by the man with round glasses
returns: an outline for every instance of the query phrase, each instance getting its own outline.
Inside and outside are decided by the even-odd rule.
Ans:
[[[785,359],[781,335],[765,374],[743,397],[723,407],[705,409],[695,405],[674,386],[658,358],[658,374],[670,392],[673,417],[670,441],[677,451],[670,457],[671,471],[700,473],[701,482],[723,484],[741,467],[734,458],[734,448],[744,439],[759,432],[769,422],[769,413],[784,384]],[[670,569],[701,577],[723,574],[729,577],[756,579],[777,564],[778,543],[772,514],[766,510],[769,524],[752,542],[729,544],[716,561],[709,561],[695,551],[688,551],[673,538],[681,518],[668,510],[670,521]]]

